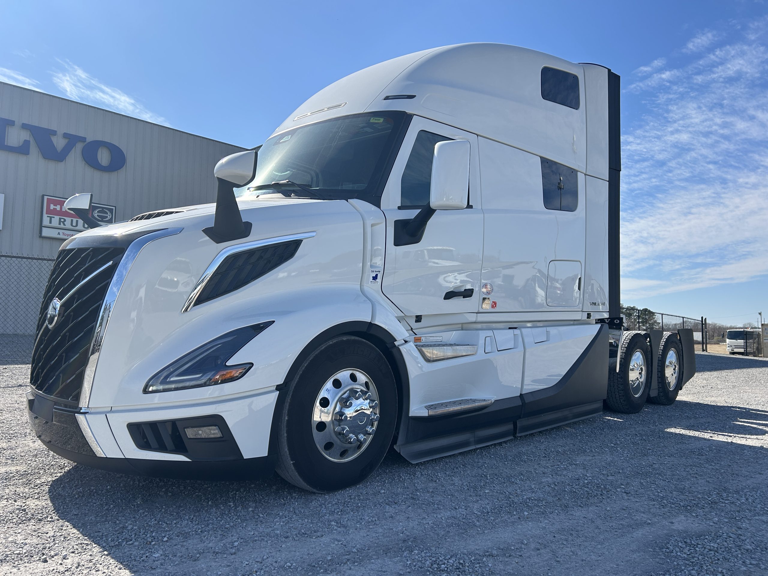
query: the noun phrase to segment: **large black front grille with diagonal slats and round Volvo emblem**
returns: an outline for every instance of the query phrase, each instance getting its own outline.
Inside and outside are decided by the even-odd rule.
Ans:
[[[32,351],[30,383],[39,392],[77,404],[94,326],[123,253],[124,248],[111,247],[59,251],[45,288]],[[110,266],[74,290],[109,262]],[[54,326],[49,328],[46,316],[54,298],[63,303]]]

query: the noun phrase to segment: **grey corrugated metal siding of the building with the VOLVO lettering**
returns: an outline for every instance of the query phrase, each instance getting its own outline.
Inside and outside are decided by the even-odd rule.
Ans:
[[[2,82],[0,117],[16,122],[7,129],[6,144],[31,141],[28,156],[0,151],[0,193],[5,194],[0,254],[55,257],[62,240],[40,237],[43,194],[69,197],[90,192],[95,203],[117,207],[117,220],[149,210],[203,204],[216,198],[217,161],[243,150]],[[65,132],[111,142],[124,151],[126,164],[117,172],[95,170],[81,156],[82,142],[65,161],[46,160],[22,123],[57,131],[53,137],[57,149],[67,142]],[[99,154],[106,164],[108,151],[102,148]]]

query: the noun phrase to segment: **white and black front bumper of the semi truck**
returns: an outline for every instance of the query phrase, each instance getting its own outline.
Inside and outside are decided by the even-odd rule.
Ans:
[[[270,475],[277,392],[162,409],[90,412],[27,392],[31,429],[72,462],[124,474],[241,480]],[[246,418],[247,416],[247,418]],[[220,439],[187,439],[185,425],[219,425]]]

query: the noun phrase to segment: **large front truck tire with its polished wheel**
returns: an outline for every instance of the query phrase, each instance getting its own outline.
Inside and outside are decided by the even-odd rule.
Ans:
[[[337,336],[303,362],[284,392],[276,471],[311,492],[365,480],[386,455],[397,422],[392,369],[356,336]]]

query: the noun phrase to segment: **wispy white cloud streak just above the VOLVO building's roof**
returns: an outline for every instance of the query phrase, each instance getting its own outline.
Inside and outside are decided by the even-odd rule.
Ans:
[[[68,60],[59,60],[59,63],[65,67],[65,71],[54,71],[51,74],[54,84],[69,98],[156,124],[170,126],[165,118],[147,110],[142,104],[118,88],[102,84],[97,78]]]

